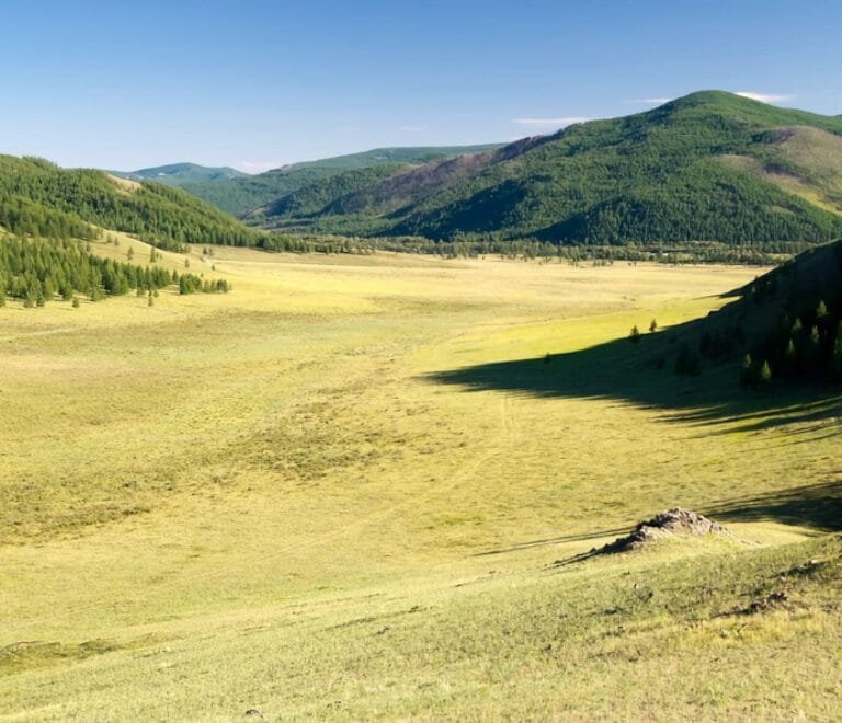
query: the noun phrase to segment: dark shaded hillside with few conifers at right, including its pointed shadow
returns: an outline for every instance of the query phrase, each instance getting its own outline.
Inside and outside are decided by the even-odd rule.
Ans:
[[[788,408],[787,422],[835,424],[842,394],[842,241],[804,252],[719,301],[721,308],[683,323],[640,314],[625,333],[601,344],[465,365],[434,378],[475,390],[623,399],[676,410],[699,425],[778,404]]]

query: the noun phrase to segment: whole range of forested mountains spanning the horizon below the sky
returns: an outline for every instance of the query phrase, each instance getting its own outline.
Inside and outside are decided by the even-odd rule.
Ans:
[[[842,118],[721,91],[507,146],[382,148],[254,176],[191,163],[120,175],[0,157],[0,225],[54,234],[87,221],[168,248],[292,242],[223,211],[264,230],[483,244],[842,237]]]

